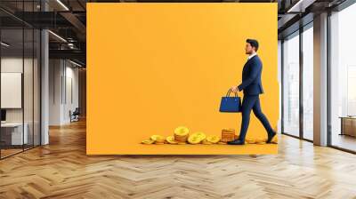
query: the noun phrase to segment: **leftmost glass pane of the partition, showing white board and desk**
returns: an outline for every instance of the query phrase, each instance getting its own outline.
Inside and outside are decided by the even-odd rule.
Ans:
[[[23,29],[1,30],[1,156],[23,150],[28,134],[23,125]],[[25,133],[24,133],[25,131]]]

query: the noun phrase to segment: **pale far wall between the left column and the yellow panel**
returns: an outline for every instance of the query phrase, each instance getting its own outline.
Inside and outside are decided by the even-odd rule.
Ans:
[[[62,125],[79,104],[78,68],[68,60],[50,60],[49,66],[49,124]]]

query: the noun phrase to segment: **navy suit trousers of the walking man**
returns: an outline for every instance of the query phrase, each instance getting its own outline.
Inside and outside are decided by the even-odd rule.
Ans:
[[[260,122],[263,123],[263,127],[267,133],[271,134],[274,132],[271,128],[271,124],[268,122],[267,117],[261,110],[259,95],[245,95],[242,101],[242,122],[239,132],[239,139],[241,140],[245,140],[246,138],[248,125],[250,123],[251,109],[254,111],[255,116],[260,120]]]

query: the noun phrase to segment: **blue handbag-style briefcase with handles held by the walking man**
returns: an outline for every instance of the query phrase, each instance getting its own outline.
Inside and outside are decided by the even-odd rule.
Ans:
[[[220,112],[224,113],[238,113],[241,112],[241,99],[235,93],[235,97],[230,97],[231,89],[220,102]]]

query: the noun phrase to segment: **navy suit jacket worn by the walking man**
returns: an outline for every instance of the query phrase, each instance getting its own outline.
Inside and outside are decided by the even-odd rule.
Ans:
[[[239,84],[239,91],[244,91],[244,95],[258,95],[263,93],[261,83],[262,61],[255,55],[247,60],[242,69],[242,83]]]

